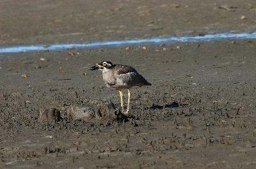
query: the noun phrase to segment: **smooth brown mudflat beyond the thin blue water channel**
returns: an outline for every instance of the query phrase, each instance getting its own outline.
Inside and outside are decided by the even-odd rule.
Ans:
[[[0,44],[250,32],[255,6],[254,0],[2,0]]]

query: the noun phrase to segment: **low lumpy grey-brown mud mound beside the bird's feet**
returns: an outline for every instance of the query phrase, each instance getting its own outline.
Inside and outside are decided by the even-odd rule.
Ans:
[[[115,122],[127,122],[128,118],[122,114],[114,103],[100,103],[94,109],[90,106],[68,106],[64,108],[43,108],[39,112],[39,121],[42,125],[58,125],[65,122],[83,121],[96,122],[109,126]]]

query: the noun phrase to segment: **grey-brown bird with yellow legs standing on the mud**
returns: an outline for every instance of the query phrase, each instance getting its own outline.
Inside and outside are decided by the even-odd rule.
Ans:
[[[119,91],[122,112],[129,114],[129,106],[131,101],[131,87],[152,85],[138,71],[128,65],[113,64],[110,61],[102,61],[92,66],[88,70],[102,71],[103,81],[107,87],[112,87]],[[127,110],[124,112],[124,94],[123,90],[128,91]]]

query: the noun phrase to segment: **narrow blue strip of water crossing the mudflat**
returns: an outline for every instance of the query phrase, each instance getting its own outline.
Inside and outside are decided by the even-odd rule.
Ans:
[[[40,44],[40,45],[17,45],[12,47],[0,47],[0,54],[29,52],[36,50],[63,50],[67,48],[93,48],[102,46],[119,46],[119,45],[138,45],[138,44],[159,44],[172,42],[195,42],[195,41],[212,41],[225,39],[255,39],[256,32],[253,33],[218,33],[204,34],[202,36],[168,36],[141,38],[132,40],[116,40],[116,41],[92,41],[81,43],[60,43],[60,44]]]

